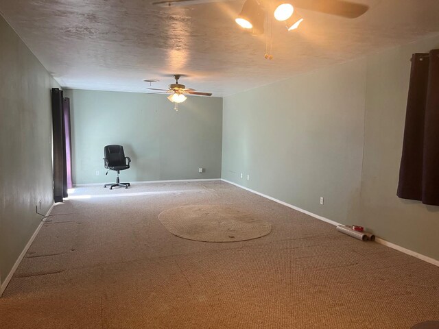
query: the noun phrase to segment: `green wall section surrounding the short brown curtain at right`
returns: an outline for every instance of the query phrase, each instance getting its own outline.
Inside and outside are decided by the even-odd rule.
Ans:
[[[396,186],[403,147],[410,58],[412,53],[438,48],[439,36],[436,36],[368,57],[361,177],[361,223],[387,241],[437,260],[439,206],[400,199],[396,197]]]

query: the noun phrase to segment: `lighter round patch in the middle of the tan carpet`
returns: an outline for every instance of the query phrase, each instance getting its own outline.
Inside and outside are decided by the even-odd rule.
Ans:
[[[230,206],[182,206],[161,212],[158,219],[180,238],[204,242],[235,242],[270,234],[270,223]]]

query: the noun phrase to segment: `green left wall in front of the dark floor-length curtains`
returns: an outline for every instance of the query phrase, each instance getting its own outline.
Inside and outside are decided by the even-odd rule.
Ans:
[[[53,204],[50,88],[59,87],[0,16],[0,281]]]

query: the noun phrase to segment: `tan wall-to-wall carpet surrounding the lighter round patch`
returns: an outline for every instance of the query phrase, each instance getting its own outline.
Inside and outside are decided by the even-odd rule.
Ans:
[[[439,268],[224,182],[78,188],[0,298],[0,328],[408,329],[439,320]],[[260,239],[180,239],[164,210],[251,208]],[[17,219],[19,220],[19,219]]]

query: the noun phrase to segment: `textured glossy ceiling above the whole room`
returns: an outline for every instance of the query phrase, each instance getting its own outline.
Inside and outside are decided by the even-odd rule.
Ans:
[[[294,0],[291,0],[294,3]],[[163,8],[152,0],[1,0],[0,12],[61,86],[145,92],[181,83],[230,95],[439,33],[438,0],[353,0],[357,19],[300,10],[295,32],[272,22],[251,36],[234,19],[243,1]]]

